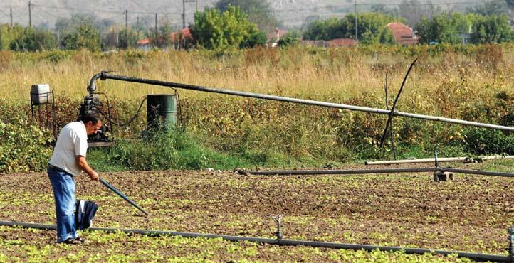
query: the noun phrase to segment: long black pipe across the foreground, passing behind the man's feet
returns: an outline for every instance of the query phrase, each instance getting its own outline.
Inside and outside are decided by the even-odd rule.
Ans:
[[[56,225],[42,225],[28,222],[12,222],[12,221],[0,221],[0,225],[7,226],[21,226],[27,228],[37,228],[43,230],[56,230]],[[476,261],[491,261],[491,262],[511,262],[511,257],[502,256],[496,254],[479,254],[459,251],[447,251],[439,249],[423,249],[423,248],[409,248],[409,247],[388,247],[388,246],[374,246],[374,245],[359,245],[359,244],[346,244],[346,243],[335,243],[335,242],[318,242],[308,240],[284,240],[284,239],[272,239],[272,238],[261,238],[261,237],[241,237],[234,235],[214,235],[194,232],[170,232],[170,231],[157,231],[157,230],[138,230],[138,229],[125,229],[125,228],[104,228],[104,227],[90,227],[89,230],[100,230],[105,232],[127,232],[141,235],[169,235],[169,236],[180,236],[180,237],[205,237],[205,238],[221,238],[228,241],[248,241],[257,243],[266,243],[270,245],[282,245],[282,246],[308,246],[308,247],[325,247],[332,249],[364,249],[367,251],[373,251],[379,249],[383,252],[396,252],[403,251],[407,254],[441,254],[449,255],[456,254],[457,257],[466,257]]]

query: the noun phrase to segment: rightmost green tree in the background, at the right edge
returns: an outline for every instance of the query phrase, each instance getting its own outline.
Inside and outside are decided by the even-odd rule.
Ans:
[[[477,16],[473,23],[473,43],[502,43],[512,38],[508,17],[505,15]]]

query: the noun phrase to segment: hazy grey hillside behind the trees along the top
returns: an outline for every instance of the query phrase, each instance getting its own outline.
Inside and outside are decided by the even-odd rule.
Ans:
[[[189,0],[190,1],[190,0]],[[374,4],[385,4],[394,8],[402,0],[357,0],[357,11],[369,11]],[[426,0],[419,0],[426,5]],[[151,4],[148,4],[151,3]],[[341,17],[354,11],[353,0],[273,0],[270,1],[276,17],[284,28],[299,27],[305,21],[315,18]],[[449,4],[445,4],[449,3]],[[464,11],[473,4],[481,4],[481,0],[431,0],[431,4],[449,11]],[[94,14],[100,19],[111,19],[120,25],[125,24],[125,10],[128,11],[128,23],[135,24],[139,17],[140,23],[152,27],[155,13],[159,21],[169,21],[175,28],[182,28],[182,1],[175,0],[35,0],[32,1],[32,24],[53,28],[58,18],[70,18],[73,14]],[[199,0],[198,10],[206,6],[214,6],[215,0]],[[12,6],[14,23],[28,25],[28,1],[2,0],[0,4],[0,23],[9,23],[9,6]],[[186,4],[186,24],[193,22],[196,4]]]

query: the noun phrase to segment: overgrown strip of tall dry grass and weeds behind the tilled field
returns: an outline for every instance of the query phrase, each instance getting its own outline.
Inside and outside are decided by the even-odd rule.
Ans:
[[[389,105],[410,63],[418,58],[399,98],[397,110],[503,125],[513,124],[514,48],[483,46],[416,46],[362,48],[288,48],[241,50],[219,55],[194,50],[120,53],[88,51],[0,53],[1,119],[30,116],[28,90],[46,82],[56,92],[58,127],[76,118],[77,108],[95,73],[182,82],[207,87],[307,98],[385,108],[385,75]],[[130,119],[147,94],[172,93],[165,87],[98,80],[98,91],[110,97],[115,119]],[[200,144],[261,163],[324,165],[330,162],[392,158],[390,147],[377,144],[387,117],[360,112],[253,100],[179,90],[187,132]],[[18,104],[14,104],[14,103]],[[21,105],[21,106],[20,106]],[[11,108],[9,108],[11,107]],[[140,138],[145,105],[135,122],[116,136]],[[481,129],[396,118],[394,134],[400,158],[468,154],[513,154],[475,145],[505,142],[505,135]],[[506,134],[509,136],[509,134]],[[469,138],[475,138],[470,141]],[[489,138],[486,141],[481,138]],[[513,139],[509,139],[514,141]],[[508,144],[510,143],[503,143]],[[284,157],[286,156],[286,157]],[[289,156],[289,157],[287,157]],[[229,168],[229,167],[226,167]]]

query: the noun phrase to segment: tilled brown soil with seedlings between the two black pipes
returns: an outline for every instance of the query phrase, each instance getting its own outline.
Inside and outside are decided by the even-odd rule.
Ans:
[[[150,217],[83,176],[77,178],[77,198],[100,205],[95,227],[273,238],[271,216],[283,215],[288,239],[506,254],[507,230],[514,225],[513,178],[456,175],[454,181],[436,183],[429,173],[243,176],[230,171],[101,176]],[[55,224],[46,173],[0,175],[0,207],[0,220]],[[55,241],[53,231],[0,231],[4,242],[31,236],[43,236],[48,245]]]

